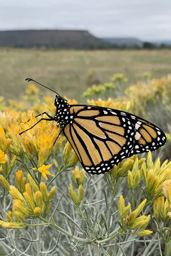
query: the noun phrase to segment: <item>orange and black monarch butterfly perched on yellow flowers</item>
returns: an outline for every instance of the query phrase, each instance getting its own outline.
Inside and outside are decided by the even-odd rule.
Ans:
[[[27,78],[26,81],[34,80]],[[43,112],[48,118],[41,118],[36,124],[41,120],[56,121],[87,173],[106,173],[127,157],[157,150],[166,142],[166,136],[159,127],[125,111],[70,105],[58,93],[54,105],[56,115]]]

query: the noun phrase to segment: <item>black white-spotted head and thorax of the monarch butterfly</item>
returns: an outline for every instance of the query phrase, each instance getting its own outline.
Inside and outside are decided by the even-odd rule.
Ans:
[[[54,105],[56,106],[56,115],[54,116],[54,120],[56,120],[57,124],[63,128],[71,120],[69,111],[70,104],[68,104],[67,100],[63,99],[59,95],[56,95]]]

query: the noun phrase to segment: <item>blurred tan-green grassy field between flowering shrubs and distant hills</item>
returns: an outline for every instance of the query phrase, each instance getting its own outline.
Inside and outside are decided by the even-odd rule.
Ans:
[[[27,86],[25,78],[32,77],[63,96],[79,99],[91,70],[103,83],[117,72],[123,72],[129,84],[142,80],[146,71],[161,77],[171,72],[171,50],[0,49],[0,95],[18,98]]]

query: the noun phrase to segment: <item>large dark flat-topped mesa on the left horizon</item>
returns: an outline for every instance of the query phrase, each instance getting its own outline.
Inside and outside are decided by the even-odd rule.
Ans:
[[[0,31],[0,47],[96,49],[108,42],[85,30]]]

